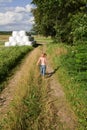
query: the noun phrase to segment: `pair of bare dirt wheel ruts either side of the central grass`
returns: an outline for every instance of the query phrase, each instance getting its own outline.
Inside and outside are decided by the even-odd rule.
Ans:
[[[15,73],[13,78],[9,81],[9,84],[3,90],[0,95],[0,121],[7,115],[11,102],[19,104],[22,98],[27,92],[27,83],[29,81],[29,75],[32,65],[35,67],[35,60],[40,55],[41,51],[45,50],[45,46],[37,47],[32,51],[24,60],[24,63],[20,66],[20,70]],[[56,111],[63,129],[61,130],[77,130],[77,119],[72,111],[69,103],[66,100],[64,91],[61,85],[58,83],[55,77],[54,70],[50,66],[48,60],[47,78],[45,79],[46,86],[51,90],[50,98],[53,100],[53,106]],[[20,91],[22,89],[22,91]],[[20,95],[20,96],[19,96]],[[18,103],[17,103],[18,102]],[[9,129],[10,130],[10,129]],[[56,129],[58,130],[58,129]]]

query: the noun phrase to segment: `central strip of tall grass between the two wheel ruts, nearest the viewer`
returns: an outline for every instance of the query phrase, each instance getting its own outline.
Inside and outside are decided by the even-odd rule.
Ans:
[[[50,98],[47,81],[31,71],[27,96],[23,100],[22,113],[13,130],[58,130],[62,129]]]

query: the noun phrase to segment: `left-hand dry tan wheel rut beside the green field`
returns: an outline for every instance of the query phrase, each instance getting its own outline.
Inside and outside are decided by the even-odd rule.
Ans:
[[[6,86],[0,95],[2,99],[5,99],[5,102],[0,107],[1,130],[11,130],[11,128],[17,122],[17,115],[19,115],[18,108],[21,105],[23,97],[28,91],[30,70],[34,61],[34,57],[36,58],[37,50],[31,53],[33,53],[33,57],[32,54],[27,56],[24,64],[20,67],[20,71],[16,72],[8,86]]]

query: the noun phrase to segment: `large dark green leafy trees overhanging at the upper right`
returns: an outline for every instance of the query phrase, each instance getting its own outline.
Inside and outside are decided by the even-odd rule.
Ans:
[[[69,44],[87,41],[86,0],[32,0],[33,30]]]

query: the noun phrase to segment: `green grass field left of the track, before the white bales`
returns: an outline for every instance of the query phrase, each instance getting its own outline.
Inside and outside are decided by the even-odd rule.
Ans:
[[[32,47],[1,47],[0,48],[0,91],[3,81],[20,60],[32,50]]]

